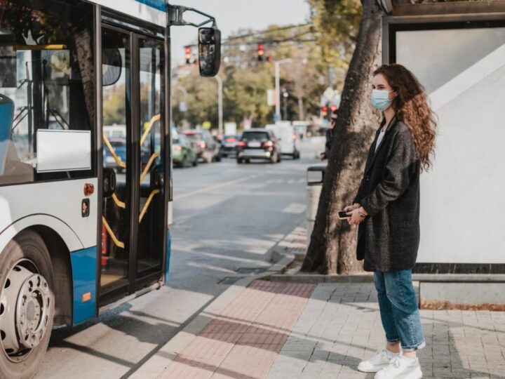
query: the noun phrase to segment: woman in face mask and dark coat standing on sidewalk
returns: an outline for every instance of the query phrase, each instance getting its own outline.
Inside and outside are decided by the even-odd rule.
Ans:
[[[419,174],[431,166],[436,120],[419,81],[402,65],[374,72],[372,105],[384,119],[370,147],[349,224],[358,225],[358,260],[374,272],[386,348],[362,361],[376,379],[418,379],[424,347],[412,286],[419,247]]]

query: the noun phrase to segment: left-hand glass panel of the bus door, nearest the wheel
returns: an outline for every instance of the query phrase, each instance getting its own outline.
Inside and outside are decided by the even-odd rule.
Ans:
[[[103,166],[116,172],[116,189],[103,199],[102,294],[128,292],[131,209],[130,34],[102,27]]]

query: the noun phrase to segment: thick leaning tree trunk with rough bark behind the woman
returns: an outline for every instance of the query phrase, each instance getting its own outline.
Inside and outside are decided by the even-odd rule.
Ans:
[[[337,125],[319,199],[314,231],[302,271],[349,274],[363,270],[356,260],[356,227],[337,212],[351,204],[363,176],[379,117],[370,104],[372,72],[380,62],[381,12],[363,1],[363,16],[342,91]]]

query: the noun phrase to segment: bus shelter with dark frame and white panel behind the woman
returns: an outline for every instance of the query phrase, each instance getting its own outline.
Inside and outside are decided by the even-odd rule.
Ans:
[[[415,272],[503,281],[505,1],[380,6],[383,62],[411,69],[438,117]]]

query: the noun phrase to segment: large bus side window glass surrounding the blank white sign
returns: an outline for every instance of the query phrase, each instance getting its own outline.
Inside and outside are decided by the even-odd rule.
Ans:
[[[93,170],[36,173],[36,131],[93,130],[93,7],[28,4],[36,5],[1,4],[0,96],[13,100],[13,119],[0,133],[8,135],[0,185],[92,176]]]

